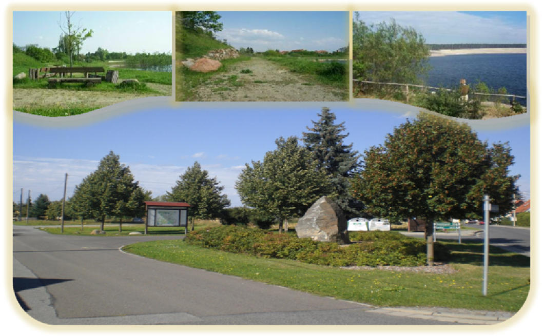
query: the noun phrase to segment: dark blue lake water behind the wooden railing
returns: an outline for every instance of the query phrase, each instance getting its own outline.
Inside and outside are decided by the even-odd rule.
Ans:
[[[498,90],[505,87],[508,94],[526,97],[526,54],[476,54],[431,57],[432,67],[426,85],[457,87],[465,78],[472,87],[484,81]],[[526,105],[525,99],[517,99]]]

